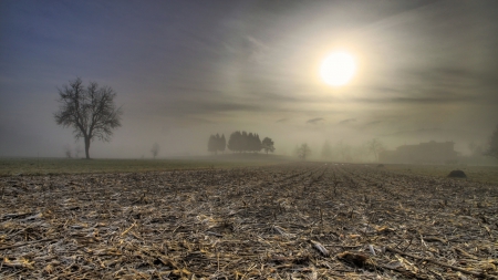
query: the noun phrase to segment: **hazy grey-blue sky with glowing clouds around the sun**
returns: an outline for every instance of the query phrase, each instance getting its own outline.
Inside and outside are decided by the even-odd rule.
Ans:
[[[0,156],[83,149],[58,126],[58,89],[114,89],[122,127],[92,157],[204,155],[210,134],[255,132],[388,148],[486,144],[498,124],[498,2],[0,1]],[[349,52],[344,86],[321,62]]]

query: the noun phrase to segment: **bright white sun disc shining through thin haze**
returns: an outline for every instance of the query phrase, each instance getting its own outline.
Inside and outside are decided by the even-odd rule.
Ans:
[[[347,52],[333,52],[326,56],[320,68],[323,81],[333,86],[341,86],[353,79],[356,62]]]

